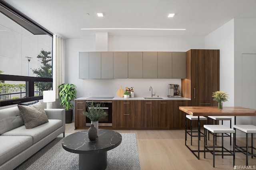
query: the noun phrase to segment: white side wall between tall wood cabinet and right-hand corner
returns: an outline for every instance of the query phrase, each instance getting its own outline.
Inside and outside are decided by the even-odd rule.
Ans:
[[[220,90],[229,99],[224,106],[234,106],[234,19],[205,37],[205,49],[220,49]]]

